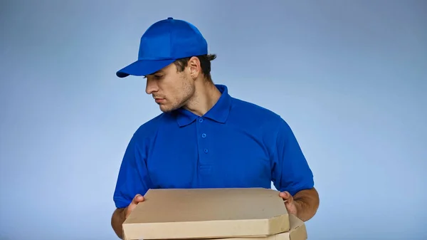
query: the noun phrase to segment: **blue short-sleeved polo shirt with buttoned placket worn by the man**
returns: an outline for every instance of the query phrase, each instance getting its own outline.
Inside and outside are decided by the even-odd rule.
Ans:
[[[179,109],[141,125],[120,167],[115,206],[158,188],[263,187],[295,194],[314,186],[312,171],[279,115],[231,97],[199,117]]]

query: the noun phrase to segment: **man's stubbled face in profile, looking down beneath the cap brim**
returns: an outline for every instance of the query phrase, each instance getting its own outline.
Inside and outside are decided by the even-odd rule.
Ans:
[[[194,95],[194,80],[186,70],[178,72],[174,63],[146,77],[145,91],[153,96],[162,112],[181,108]]]

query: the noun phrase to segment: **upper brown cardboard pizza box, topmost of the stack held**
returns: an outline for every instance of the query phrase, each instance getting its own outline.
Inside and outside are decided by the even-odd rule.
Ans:
[[[149,189],[123,223],[126,240],[270,236],[290,230],[279,192],[263,188]]]

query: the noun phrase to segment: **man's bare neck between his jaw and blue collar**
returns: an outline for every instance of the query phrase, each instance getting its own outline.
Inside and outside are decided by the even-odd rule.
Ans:
[[[201,80],[196,83],[196,93],[193,98],[189,100],[184,108],[191,113],[202,116],[205,115],[221,97],[221,92],[216,88],[214,83],[206,80]]]

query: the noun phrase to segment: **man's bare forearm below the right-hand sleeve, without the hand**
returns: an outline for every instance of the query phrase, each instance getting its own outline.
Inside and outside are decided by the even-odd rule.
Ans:
[[[319,208],[319,194],[315,188],[302,190],[293,196],[297,206],[297,217],[302,221],[307,221],[315,216]]]

